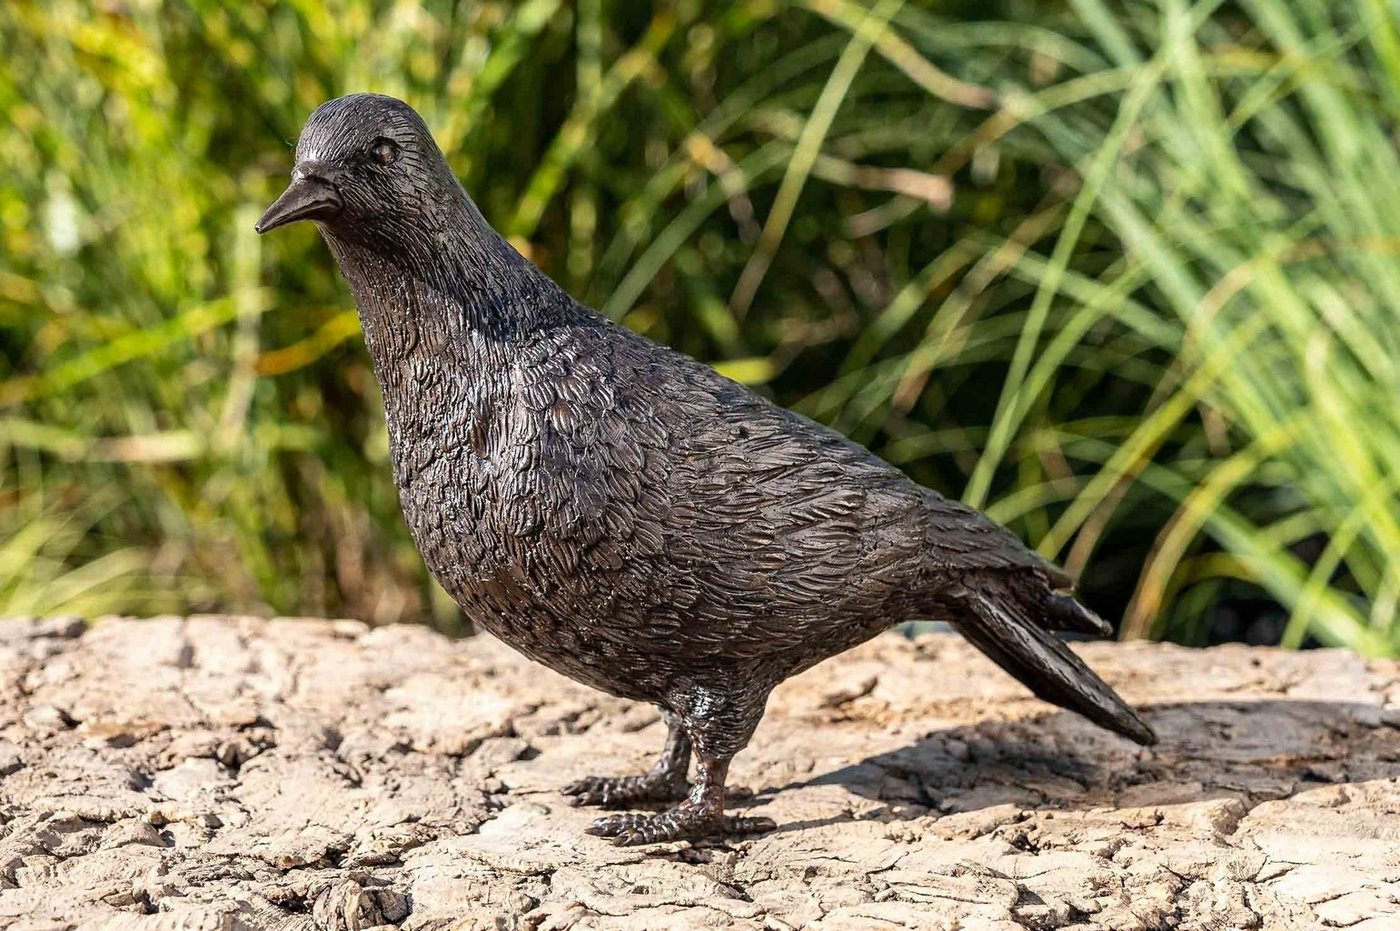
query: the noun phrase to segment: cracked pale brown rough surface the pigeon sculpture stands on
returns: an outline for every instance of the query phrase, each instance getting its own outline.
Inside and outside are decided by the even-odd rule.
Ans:
[[[480,637],[0,622],[0,927],[1400,927],[1400,666],[1092,644],[1162,745],[953,637],[781,686],[734,766],[778,822],[615,848],[556,794],[664,727]]]

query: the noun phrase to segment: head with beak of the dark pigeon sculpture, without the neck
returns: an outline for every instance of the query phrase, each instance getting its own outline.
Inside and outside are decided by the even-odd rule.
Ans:
[[[350,94],[322,104],[307,120],[291,185],[255,228],[312,220],[330,238],[392,246],[441,230],[465,202],[412,106],[381,94]]]

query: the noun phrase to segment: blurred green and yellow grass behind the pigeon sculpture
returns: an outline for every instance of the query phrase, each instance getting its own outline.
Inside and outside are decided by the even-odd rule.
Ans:
[[[577,295],[1126,633],[1400,652],[1385,0],[10,0],[0,60],[4,612],[459,624],[329,255],[252,232],[374,90]]]

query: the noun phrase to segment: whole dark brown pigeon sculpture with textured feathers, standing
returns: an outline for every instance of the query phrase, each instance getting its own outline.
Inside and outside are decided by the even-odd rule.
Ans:
[[[725,774],[778,682],[909,619],[949,622],[1042,699],[1152,731],[1054,636],[1110,629],[983,514],[566,294],[482,217],[421,118],[333,99],[258,231],[311,220],[384,391],[403,515],[480,627],[669,734],[577,804],[643,844],[759,830]],[[690,757],[696,783],[687,784]]]

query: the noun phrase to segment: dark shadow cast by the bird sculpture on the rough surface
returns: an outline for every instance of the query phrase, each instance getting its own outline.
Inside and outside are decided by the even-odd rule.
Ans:
[[[1393,777],[1400,762],[1400,732],[1378,706],[1200,701],[1144,711],[1162,738],[1155,748],[1138,748],[1057,711],[934,731],[790,788],[839,784],[885,802],[875,818],[906,819],[1000,805],[1086,811],[1215,798],[1253,804],[1319,784]]]

